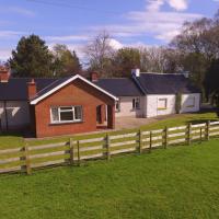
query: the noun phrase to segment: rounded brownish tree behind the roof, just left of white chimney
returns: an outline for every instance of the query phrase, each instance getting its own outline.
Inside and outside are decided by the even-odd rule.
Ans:
[[[131,69],[140,67],[140,51],[137,48],[118,49],[113,59],[114,76],[129,77]]]

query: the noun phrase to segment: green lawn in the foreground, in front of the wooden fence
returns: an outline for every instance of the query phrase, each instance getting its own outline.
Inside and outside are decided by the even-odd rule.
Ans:
[[[219,140],[0,176],[2,219],[219,218]]]

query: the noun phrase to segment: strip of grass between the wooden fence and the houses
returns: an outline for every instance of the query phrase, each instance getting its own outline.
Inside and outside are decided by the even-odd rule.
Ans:
[[[151,123],[140,128],[142,130],[150,130],[150,129],[159,129],[173,126],[181,126],[188,123],[197,124],[197,123],[206,123],[207,120],[216,120],[218,119],[216,113],[196,113],[196,114],[181,114],[173,116],[172,118],[161,119],[157,123]],[[113,131],[113,132],[124,132],[122,131]],[[94,136],[100,136],[100,134],[94,134]],[[79,138],[85,138],[84,135],[81,135]],[[44,139],[44,140],[32,140],[31,145],[43,145],[43,143],[53,143],[58,141],[68,141],[69,137],[59,137],[59,138],[51,138],[51,139]],[[18,148],[24,145],[24,139],[21,136],[0,136],[0,149],[5,148]]]

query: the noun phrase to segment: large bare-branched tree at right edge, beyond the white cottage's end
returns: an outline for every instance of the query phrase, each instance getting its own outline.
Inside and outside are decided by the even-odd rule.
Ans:
[[[206,94],[204,83],[211,62],[219,57],[219,23],[215,19],[203,18],[186,22],[182,32],[170,44],[181,53],[182,70],[189,71],[194,83]]]

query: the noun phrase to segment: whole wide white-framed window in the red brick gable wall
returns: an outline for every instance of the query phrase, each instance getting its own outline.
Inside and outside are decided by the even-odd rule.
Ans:
[[[51,123],[73,123],[82,120],[82,106],[51,107]]]

